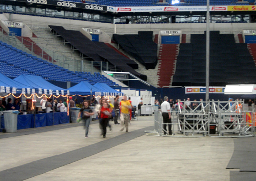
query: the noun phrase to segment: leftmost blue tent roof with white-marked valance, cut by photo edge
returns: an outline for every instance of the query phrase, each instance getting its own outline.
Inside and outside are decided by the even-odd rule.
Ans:
[[[22,93],[22,88],[31,88],[25,84],[17,82],[13,79],[8,78],[7,76],[0,73],[0,86],[1,93],[14,93],[14,89],[16,88],[16,93]],[[10,87],[10,92],[8,91]]]

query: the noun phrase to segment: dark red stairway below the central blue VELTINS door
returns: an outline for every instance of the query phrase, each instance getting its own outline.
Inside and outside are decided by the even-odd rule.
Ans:
[[[175,72],[175,61],[178,55],[178,44],[161,44],[158,54],[158,83],[157,87],[169,87]]]

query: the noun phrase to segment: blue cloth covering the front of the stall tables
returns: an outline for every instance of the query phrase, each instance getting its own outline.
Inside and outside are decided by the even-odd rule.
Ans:
[[[54,119],[53,119],[54,117]],[[4,128],[4,116],[1,118],[1,128]],[[53,123],[54,121],[54,123]],[[35,114],[35,127],[52,126],[69,123],[67,112]],[[34,114],[18,115],[17,129],[27,129],[34,127]]]

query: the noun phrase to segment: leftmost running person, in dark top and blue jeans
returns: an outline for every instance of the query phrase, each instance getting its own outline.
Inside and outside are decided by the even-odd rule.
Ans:
[[[89,125],[91,122],[91,115],[94,115],[93,110],[89,107],[89,101],[83,102],[83,107],[80,109],[78,114],[78,122],[79,119],[82,117],[82,120],[84,121],[84,127],[85,127],[85,138],[88,138],[88,131],[89,131]]]

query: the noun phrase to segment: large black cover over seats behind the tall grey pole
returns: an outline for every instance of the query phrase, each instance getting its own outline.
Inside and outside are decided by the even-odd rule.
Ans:
[[[247,45],[235,43],[233,34],[219,31],[210,31],[209,73],[210,86],[256,82],[255,63]],[[205,86],[205,77],[206,34],[191,34],[191,43],[180,44],[172,85]]]

